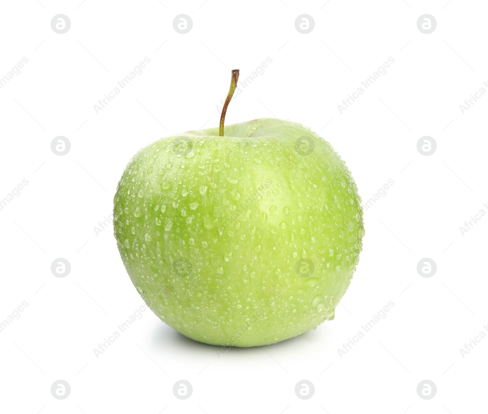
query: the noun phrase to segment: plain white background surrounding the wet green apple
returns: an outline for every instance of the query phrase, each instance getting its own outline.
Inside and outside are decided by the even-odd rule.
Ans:
[[[1,4],[0,320],[28,306],[0,333],[5,413],[470,413],[486,410],[488,212],[484,95],[488,7],[483,1],[78,1]],[[164,4],[163,4],[164,3]],[[184,4],[183,4],[184,3]],[[203,3],[203,4],[202,4]],[[447,3],[447,4],[446,4]],[[65,34],[51,19],[65,14]],[[431,34],[417,19],[431,14]],[[186,14],[192,30],[173,19]],[[313,17],[309,34],[295,29]],[[163,44],[164,43],[164,44]],[[163,45],[162,45],[163,44]],[[151,59],[97,114],[93,105],[144,58]],[[272,63],[233,100],[227,123],[289,118],[321,134],[346,161],[363,201],[357,272],[336,318],[297,338],[249,349],[193,342],[143,313],[97,358],[93,349],[143,304],[111,228],[117,182],[136,151],[165,135],[218,125],[230,69],[241,78]],[[337,105],[388,57],[386,75],[341,114]],[[488,88],[487,88],[488,89]],[[325,126],[326,125],[326,126]],[[71,150],[51,151],[65,136]],[[431,156],[417,141],[437,142]],[[71,272],[54,277],[54,259]],[[437,264],[419,276],[420,259]],[[394,307],[346,355],[338,349],[388,301]],[[485,331],[486,332],[486,331]],[[51,384],[71,386],[64,400]],[[193,386],[186,400],[173,384]],[[307,379],[308,400],[294,392]],[[419,382],[437,394],[424,400]]]

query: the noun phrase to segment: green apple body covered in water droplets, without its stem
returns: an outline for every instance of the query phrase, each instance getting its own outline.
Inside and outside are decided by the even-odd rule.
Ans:
[[[127,165],[114,231],[134,286],[165,323],[212,345],[267,345],[333,319],[364,236],[346,164],[287,120],[218,134],[161,138]]]

